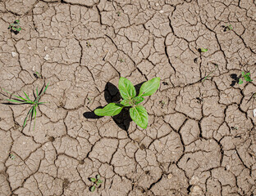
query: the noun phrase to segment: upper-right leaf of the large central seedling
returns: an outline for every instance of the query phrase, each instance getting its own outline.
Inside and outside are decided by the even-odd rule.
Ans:
[[[155,91],[158,91],[160,86],[160,78],[153,78],[148,82],[144,82],[139,89],[139,96],[151,96]]]

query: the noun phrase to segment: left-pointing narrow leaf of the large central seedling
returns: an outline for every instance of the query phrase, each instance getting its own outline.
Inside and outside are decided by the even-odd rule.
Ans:
[[[110,103],[106,105],[103,109],[95,109],[94,114],[98,116],[115,116],[121,112],[122,108],[122,105]]]

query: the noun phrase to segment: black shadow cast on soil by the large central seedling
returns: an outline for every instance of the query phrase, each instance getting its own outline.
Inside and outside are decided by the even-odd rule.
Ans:
[[[137,92],[137,95],[139,94],[139,88],[141,87],[141,85],[143,84],[143,82],[135,85],[135,89]],[[105,100],[107,101],[107,104],[112,103],[112,102],[120,102],[121,101],[121,95],[119,93],[118,88],[113,85],[111,82],[107,82],[105,89],[104,89],[104,97]],[[96,109],[100,109],[103,107],[98,107]],[[98,118],[103,118],[100,116],[97,116],[96,114],[94,114],[94,112],[85,112],[84,114],[85,118],[91,118],[91,119],[98,119]],[[114,122],[117,123],[117,126],[120,127],[123,130],[128,130],[130,127],[130,122],[132,121],[130,118],[130,114],[129,114],[129,108],[126,107],[124,109],[121,110],[120,114],[117,114],[116,116],[112,117]]]

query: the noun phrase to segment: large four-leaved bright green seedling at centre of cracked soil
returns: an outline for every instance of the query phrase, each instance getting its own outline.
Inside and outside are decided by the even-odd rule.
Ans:
[[[136,96],[136,90],[130,80],[120,78],[118,88],[123,100],[120,103],[110,103],[103,109],[95,109],[94,114],[98,116],[115,116],[121,112],[121,109],[129,107],[130,118],[142,128],[148,127],[149,116],[144,106],[139,105],[144,100],[144,96],[151,96],[158,90],[160,78],[153,78],[144,82],[139,89],[139,96]]]

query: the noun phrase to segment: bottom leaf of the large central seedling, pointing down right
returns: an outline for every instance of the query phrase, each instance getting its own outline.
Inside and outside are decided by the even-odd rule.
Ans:
[[[149,116],[147,110],[142,105],[130,108],[130,118],[141,128],[147,128]]]

